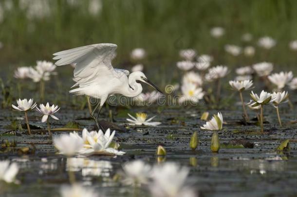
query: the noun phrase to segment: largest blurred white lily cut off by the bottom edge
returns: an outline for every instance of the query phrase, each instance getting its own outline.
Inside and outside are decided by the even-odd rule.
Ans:
[[[191,187],[186,186],[189,169],[167,162],[155,165],[149,190],[153,197],[197,197]]]

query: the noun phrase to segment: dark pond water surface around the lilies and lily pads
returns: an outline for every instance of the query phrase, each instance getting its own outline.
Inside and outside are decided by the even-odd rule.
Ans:
[[[294,101],[294,100],[293,100]],[[293,102],[294,105],[296,103]],[[210,151],[211,131],[200,129],[205,121],[200,120],[203,113],[197,107],[164,107],[156,113],[157,107],[134,107],[130,113],[146,111],[149,116],[157,115],[155,121],[162,122],[157,127],[130,126],[127,131],[116,132],[114,140],[121,144],[124,156],[92,156],[88,158],[66,158],[57,155],[46,133],[28,136],[26,130],[16,131],[17,136],[7,135],[12,119],[21,114],[11,110],[1,110],[0,139],[15,140],[17,146],[36,147],[35,154],[19,155],[4,153],[0,160],[9,159],[20,166],[19,185],[2,185],[1,196],[58,196],[61,185],[69,183],[69,173],[74,173],[75,180],[83,185],[92,185],[98,194],[103,196],[149,196],[144,186],[133,188],[116,181],[122,164],[134,159],[148,163],[176,161],[190,168],[188,184],[192,185],[200,196],[295,196],[297,192],[297,158],[296,143],[290,143],[291,150],[277,153],[275,149],[285,139],[295,139],[297,125],[289,121],[296,118],[296,110],[284,104],[280,107],[283,127],[278,126],[275,109],[265,107],[265,133],[260,134],[260,127],[254,124],[242,125],[240,104],[236,110],[221,110],[224,121],[223,130],[219,132],[220,142],[242,139],[254,143],[253,148],[221,148],[219,153]],[[295,107],[296,108],[296,107]],[[116,124],[125,123],[120,114],[121,108],[112,108]],[[210,114],[217,110],[208,110]],[[251,118],[256,113],[249,111]],[[71,121],[86,127],[94,128],[88,110],[60,109],[57,116],[60,121],[52,121],[52,127],[62,127]],[[107,117],[107,111],[100,115]],[[32,125],[46,128],[36,120],[38,114],[32,112]],[[253,122],[253,121],[252,121]],[[253,123],[256,123],[254,121]],[[193,151],[189,140],[194,131],[198,131],[199,145]],[[63,132],[54,132],[54,137]],[[80,133],[80,132],[79,132]],[[80,133],[81,134],[81,133]],[[167,150],[165,158],[157,158],[156,147],[161,144]]]

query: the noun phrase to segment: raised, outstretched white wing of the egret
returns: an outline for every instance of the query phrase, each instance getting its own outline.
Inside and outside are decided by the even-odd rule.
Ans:
[[[110,43],[92,44],[57,52],[53,59],[58,59],[57,66],[75,63],[74,80],[80,87],[85,87],[98,79],[119,74],[111,65],[116,48],[115,44]]]

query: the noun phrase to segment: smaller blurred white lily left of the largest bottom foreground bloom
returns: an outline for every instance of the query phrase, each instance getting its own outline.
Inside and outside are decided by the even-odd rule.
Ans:
[[[123,170],[125,173],[124,183],[135,186],[148,183],[151,174],[151,166],[141,160],[125,163]]]

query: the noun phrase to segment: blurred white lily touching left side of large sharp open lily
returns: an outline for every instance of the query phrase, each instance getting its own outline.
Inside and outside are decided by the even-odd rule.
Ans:
[[[66,156],[78,154],[84,146],[83,139],[75,131],[54,138],[53,142],[59,154]]]

